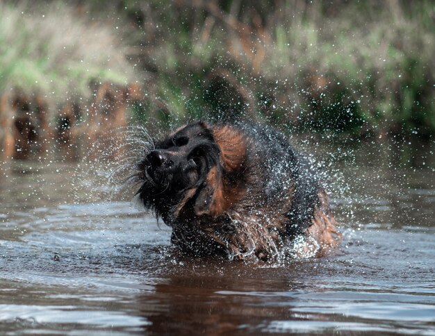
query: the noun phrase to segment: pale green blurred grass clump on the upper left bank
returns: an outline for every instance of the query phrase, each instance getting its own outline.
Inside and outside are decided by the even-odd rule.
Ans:
[[[127,83],[133,67],[109,24],[92,23],[63,2],[1,2],[0,92],[42,92],[53,103],[88,98],[92,80]]]

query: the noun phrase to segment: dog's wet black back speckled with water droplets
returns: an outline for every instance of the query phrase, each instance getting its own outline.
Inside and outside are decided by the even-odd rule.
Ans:
[[[296,153],[288,138],[270,126],[241,125],[240,131],[249,138],[252,160],[262,171],[258,192],[268,203],[279,203],[291,194],[286,233],[295,237],[311,226],[316,205],[320,204],[320,176],[308,158]],[[256,167],[258,171],[258,167]]]

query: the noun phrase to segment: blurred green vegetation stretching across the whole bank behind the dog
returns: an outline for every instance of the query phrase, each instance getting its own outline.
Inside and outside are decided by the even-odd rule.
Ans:
[[[26,6],[0,5],[1,90],[38,87],[65,99],[72,88],[89,95],[91,79],[140,78],[145,101],[133,115],[148,124],[243,119],[330,135],[435,133],[434,1]]]

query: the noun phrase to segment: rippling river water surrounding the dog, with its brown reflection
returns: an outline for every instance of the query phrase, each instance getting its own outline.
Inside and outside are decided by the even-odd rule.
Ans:
[[[129,202],[88,203],[75,165],[1,166],[0,334],[435,335],[430,149],[341,153],[341,252],[256,266],[175,255],[170,230]]]

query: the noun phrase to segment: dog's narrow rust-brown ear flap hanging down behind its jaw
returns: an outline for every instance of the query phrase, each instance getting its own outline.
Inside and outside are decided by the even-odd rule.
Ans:
[[[213,167],[207,174],[195,200],[195,215],[221,215],[225,209],[222,190],[222,174]]]

